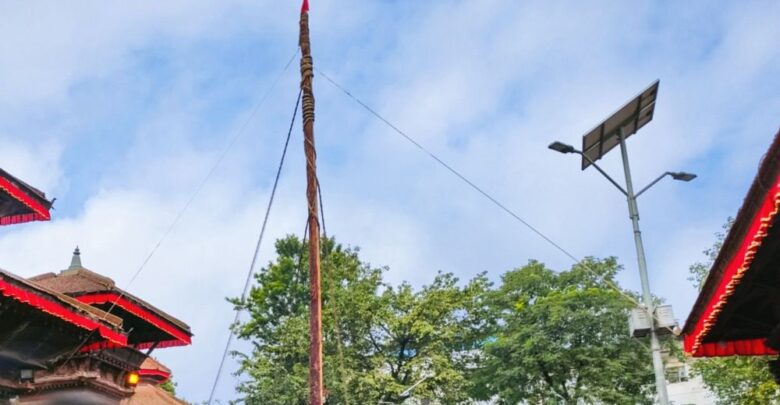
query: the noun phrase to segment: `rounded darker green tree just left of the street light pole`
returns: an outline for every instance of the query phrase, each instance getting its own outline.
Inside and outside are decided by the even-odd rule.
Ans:
[[[649,352],[627,333],[633,304],[606,284],[619,270],[609,258],[560,273],[531,261],[504,274],[492,293],[498,327],[484,347],[475,396],[502,404],[650,403]]]

